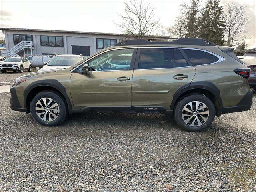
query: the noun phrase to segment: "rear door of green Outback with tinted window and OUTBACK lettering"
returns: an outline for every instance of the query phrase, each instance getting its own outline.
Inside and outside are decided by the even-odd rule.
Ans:
[[[132,107],[169,110],[174,92],[195,76],[181,48],[138,48],[132,80]]]

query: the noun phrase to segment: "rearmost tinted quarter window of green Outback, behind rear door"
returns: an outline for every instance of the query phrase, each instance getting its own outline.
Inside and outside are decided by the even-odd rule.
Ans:
[[[207,52],[192,49],[183,49],[192,65],[204,65],[217,62],[219,59]]]

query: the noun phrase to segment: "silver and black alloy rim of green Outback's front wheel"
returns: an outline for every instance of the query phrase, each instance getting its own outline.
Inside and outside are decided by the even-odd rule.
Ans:
[[[54,121],[60,114],[60,108],[52,98],[44,97],[36,102],[36,114],[46,122]]]

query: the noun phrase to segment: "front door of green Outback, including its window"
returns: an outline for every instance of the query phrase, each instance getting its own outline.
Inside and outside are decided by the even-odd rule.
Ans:
[[[86,61],[87,74],[79,73],[81,64],[70,79],[74,108],[130,107],[135,55],[136,48],[106,51]]]

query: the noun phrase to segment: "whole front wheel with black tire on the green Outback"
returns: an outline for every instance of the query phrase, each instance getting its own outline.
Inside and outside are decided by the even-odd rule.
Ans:
[[[50,100],[52,101],[50,102]],[[44,108],[44,110],[38,110],[42,108]],[[36,121],[44,126],[57,126],[61,124],[68,115],[68,107],[64,98],[58,92],[51,90],[36,94],[30,103],[30,111]]]

